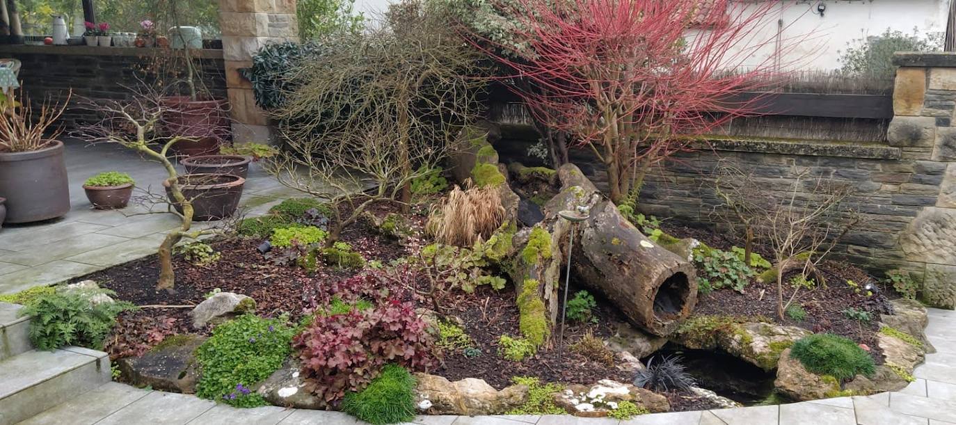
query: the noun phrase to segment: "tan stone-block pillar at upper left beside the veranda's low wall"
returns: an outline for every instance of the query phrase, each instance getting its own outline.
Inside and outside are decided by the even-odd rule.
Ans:
[[[268,121],[239,70],[252,66],[252,55],[266,44],[298,40],[295,0],[219,0],[219,25],[233,138],[265,142],[270,139]]]

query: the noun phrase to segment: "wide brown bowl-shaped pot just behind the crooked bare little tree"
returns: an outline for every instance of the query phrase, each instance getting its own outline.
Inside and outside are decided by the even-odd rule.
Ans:
[[[222,220],[236,212],[246,179],[230,174],[185,174],[178,178],[186,200],[192,202],[192,220],[208,222]],[[183,205],[175,202],[170,181],[163,181],[166,197],[176,210],[183,212]]]

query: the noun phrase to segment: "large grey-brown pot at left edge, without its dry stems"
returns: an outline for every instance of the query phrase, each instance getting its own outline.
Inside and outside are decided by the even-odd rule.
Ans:
[[[0,152],[0,197],[6,198],[6,223],[31,223],[70,212],[70,182],[63,142],[32,152]]]

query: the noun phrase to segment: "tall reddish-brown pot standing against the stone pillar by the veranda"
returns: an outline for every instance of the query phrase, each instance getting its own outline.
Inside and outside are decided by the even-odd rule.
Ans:
[[[172,150],[187,157],[219,152],[229,137],[229,118],[225,99],[192,100],[189,96],[163,97],[163,133],[166,137],[185,136],[197,141],[180,141]]]

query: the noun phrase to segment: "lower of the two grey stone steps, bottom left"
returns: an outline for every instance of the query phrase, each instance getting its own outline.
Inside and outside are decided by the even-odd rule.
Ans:
[[[27,351],[0,361],[0,425],[12,425],[110,381],[105,352]]]

